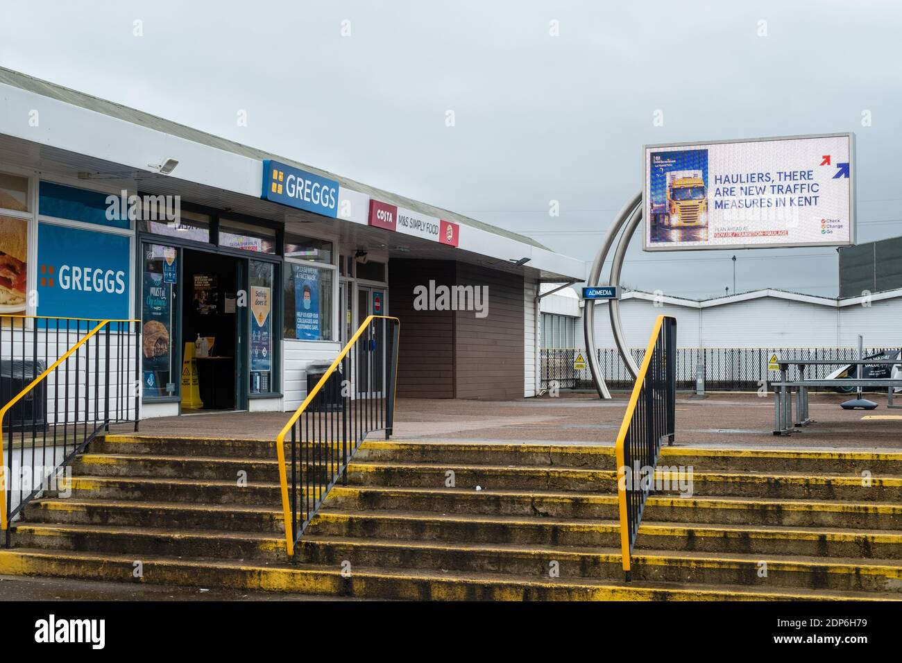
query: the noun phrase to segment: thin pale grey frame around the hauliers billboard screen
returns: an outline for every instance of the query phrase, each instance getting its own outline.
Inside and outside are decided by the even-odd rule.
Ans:
[[[647,167],[646,156],[649,149],[656,150],[658,148],[668,147],[692,147],[695,145],[725,145],[730,143],[770,143],[775,141],[798,141],[808,138],[847,138],[849,140],[849,241],[848,242],[785,242],[781,244],[723,244],[719,246],[677,246],[667,248],[666,246],[649,246],[648,225],[650,222],[649,215],[646,214],[645,189],[647,185]],[[780,248],[796,248],[796,247],[833,247],[833,246],[854,246],[857,235],[857,219],[855,215],[857,188],[857,169],[858,159],[855,154],[855,133],[845,132],[839,134],[801,134],[792,136],[770,136],[765,138],[738,138],[728,141],[694,141],[681,143],[646,143],[642,145],[642,251],[649,253],[660,252],[678,252],[678,251],[741,251],[744,249],[780,249]]]

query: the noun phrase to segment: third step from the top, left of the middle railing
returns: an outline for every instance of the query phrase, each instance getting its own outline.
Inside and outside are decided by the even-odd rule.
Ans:
[[[72,476],[66,485],[69,486],[70,498],[78,500],[136,500],[270,507],[281,504],[279,483],[239,484],[236,480],[87,475]],[[54,497],[59,493],[58,491],[48,495]]]

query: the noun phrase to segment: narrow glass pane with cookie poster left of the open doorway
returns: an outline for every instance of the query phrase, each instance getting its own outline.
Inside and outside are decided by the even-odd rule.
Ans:
[[[178,250],[143,244],[142,385],[144,398],[173,396],[172,338],[178,287]]]

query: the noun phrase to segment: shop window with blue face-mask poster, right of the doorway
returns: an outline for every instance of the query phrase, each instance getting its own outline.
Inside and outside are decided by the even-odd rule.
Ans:
[[[285,338],[332,340],[335,269],[285,262]]]

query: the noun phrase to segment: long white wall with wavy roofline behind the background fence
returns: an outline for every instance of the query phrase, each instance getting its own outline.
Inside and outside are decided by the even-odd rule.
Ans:
[[[679,347],[869,347],[902,346],[902,297],[870,307],[817,304],[763,297],[705,308],[646,299],[621,301],[621,322],[630,347],[644,347],[659,315],[676,317]],[[595,309],[595,344],[614,347],[607,304]]]

